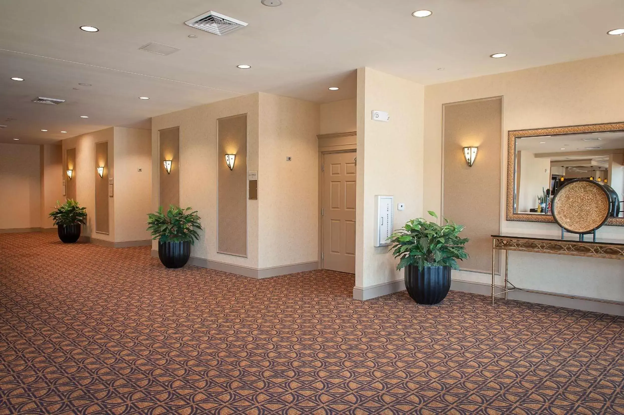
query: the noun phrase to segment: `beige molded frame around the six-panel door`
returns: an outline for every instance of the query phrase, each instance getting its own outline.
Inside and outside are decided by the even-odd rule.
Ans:
[[[325,154],[331,153],[350,153],[357,152],[358,133],[356,131],[339,132],[334,134],[319,134],[318,138],[318,268],[323,270],[324,261],[321,258],[323,253],[323,215],[321,215],[321,209],[323,208],[324,198],[324,172],[323,164],[325,161]],[[358,180],[356,170],[356,180]]]

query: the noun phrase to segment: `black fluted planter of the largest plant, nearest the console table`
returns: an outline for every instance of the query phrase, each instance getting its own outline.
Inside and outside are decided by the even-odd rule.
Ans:
[[[451,289],[451,267],[425,266],[421,271],[417,265],[407,265],[405,288],[417,303],[437,304],[444,300]]]

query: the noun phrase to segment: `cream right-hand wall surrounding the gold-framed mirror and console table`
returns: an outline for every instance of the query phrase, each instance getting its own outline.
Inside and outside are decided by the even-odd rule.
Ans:
[[[424,169],[429,175],[424,185],[424,210],[439,210],[441,205],[442,104],[502,95],[502,232],[560,235],[560,228],[552,223],[505,220],[507,131],[622,121],[624,77],[617,69],[623,66],[624,54],[618,54],[425,87]],[[624,240],[624,228],[603,227],[598,235]],[[510,278],[517,286],[624,301],[621,261],[605,260],[597,266],[592,258],[515,252],[509,256]],[[454,278],[458,275],[455,273]],[[489,283],[490,276],[462,273],[461,279]]]

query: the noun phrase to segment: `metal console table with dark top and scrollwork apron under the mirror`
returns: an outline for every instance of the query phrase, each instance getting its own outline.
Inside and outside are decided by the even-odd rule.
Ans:
[[[573,239],[576,238],[576,239]],[[504,285],[496,285],[494,281],[494,266],[496,251],[505,251],[505,282]],[[579,296],[544,293],[543,291],[526,290],[517,288],[509,281],[509,251],[552,253],[555,255],[591,256],[592,258],[608,258],[613,260],[624,260],[624,241],[597,240],[579,241],[578,236],[566,235],[565,239],[554,237],[535,237],[531,235],[492,235],[492,305],[497,295],[504,294],[507,300],[507,293],[510,291],[526,291],[528,293],[539,293],[556,295],[566,298],[582,298],[583,300],[599,301],[600,303],[622,304],[617,301],[594,300]],[[496,292],[499,288],[499,293]]]

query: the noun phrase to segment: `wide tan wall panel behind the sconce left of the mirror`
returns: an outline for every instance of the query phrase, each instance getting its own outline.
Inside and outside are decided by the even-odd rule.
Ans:
[[[502,97],[444,104],[442,111],[442,214],[466,225],[470,258],[459,261],[462,270],[491,272],[490,235],[500,232]],[[472,167],[463,147],[479,147]]]

